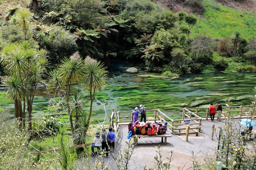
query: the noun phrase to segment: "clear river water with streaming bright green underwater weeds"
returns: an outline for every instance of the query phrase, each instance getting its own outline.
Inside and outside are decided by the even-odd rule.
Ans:
[[[115,111],[127,111],[142,104],[147,109],[160,109],[176,119],[181,117],[183,107],[208,106],[217,101],[225,104],[224,100],[228,98],[231,98],[232,105],[250,105],[255,95],[255,73],[186,74],[177,79],[166,79],[144,77],[143,75],[152,73],[143,69],[134,74],[121,72],[130,66],[130,63],[111,65],[107,86],[102,92],[96,93],[97,99],[106,101],[108,115],[113,107]],[[135,66],[140,68],[140,65]],[[88,96],[82,86],[75,85],[72,88],[80,89],[85,97]],[[54,109],[49,112],[50,98],[42,93],[45,90],[38,90],[33,107],[34,117],[61,112],[53,111]],[[13,104],[4,98],[3,92],[0,93],[0,101],[0,107],[9,107],[11,112],[14,111]],[[87,101],[88,108],[89,100]],[[103,106],[94,101],[93,108],[93,117],[102,120],[105,116]]]

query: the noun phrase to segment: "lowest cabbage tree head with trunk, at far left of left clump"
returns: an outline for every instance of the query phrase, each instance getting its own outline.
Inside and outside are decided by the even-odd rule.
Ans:
[[[6,86],[6,97],[14,101],[15,118],[22,123],[21,99],[25,96],[23,83],[17,75],[13,75],[7,77],[7,79],[4,81],[4,85]]]

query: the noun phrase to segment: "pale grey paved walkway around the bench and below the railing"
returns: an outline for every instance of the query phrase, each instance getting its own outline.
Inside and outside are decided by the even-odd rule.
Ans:
[[[236,119],[236,122],[239,119]],[[256,121],[254,119],[254,121]],[[152,168],[154,166],[154,156],[156,156],[156,148],[158,144],[161,146],[161,153],[163,160],[167,160],[166,157],[170,157],[169,153],[173,150],[172,155],[172,169],[187,169],[192,166],[192,156],[194,153],[195,159],[198,164],[202,163],[205,157],[216,159],[215,149],[218,146],[218,134],[219,129],[224,125],[222,122],[214,121],[202,121],[202,136],[189,137],[188,142],[186,142],[185,136],[173,135],[171,138],[167,138],[167,143],[161,143],[161,138],[138,138],[138,145],[135,146],[134,152],[132,154],[131,161],[129,163],[129,169],[143,169],[144,166],[147,168]],[[213,140],[212,135],[212,125],[215,125],[216,132],[214,134]],[[127,126],[122,126],[120,128],[120,150],[127,148],[128,141],[126,138],[128,134]],[[133,138],[132,138],[133,143]],[[190,168],[192,169],[192,168]]]

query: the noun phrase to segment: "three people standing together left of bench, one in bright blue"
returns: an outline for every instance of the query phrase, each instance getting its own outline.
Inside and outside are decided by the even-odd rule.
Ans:
[[[116,135],[114,132],[112,132],[112,128],[108,128],[109,132],[106,132],[105,128],[102,128],[102,135],[100,136],[100,132],[96,132],[93,143],[92,144],[92,154],[95,155],[94,148],[97,148],[98,153],[100,152],[100,149],[106,151],[106,157],[108,158],[108,148],[110,148],[110,151],[113,151],[115,149],[115,142],[116,142]]]

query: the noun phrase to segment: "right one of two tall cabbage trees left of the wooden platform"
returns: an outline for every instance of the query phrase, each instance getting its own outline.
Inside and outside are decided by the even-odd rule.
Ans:
[[[95,91],[102,91],[103,85],[106,85],[105,78],[108,71],[105,70],[104,65],[94,59],[87,58],[84,61],[84,86],[90,91],[90,111],[88,115],[88,121],[92,116],[92,103]]]

